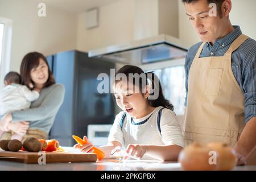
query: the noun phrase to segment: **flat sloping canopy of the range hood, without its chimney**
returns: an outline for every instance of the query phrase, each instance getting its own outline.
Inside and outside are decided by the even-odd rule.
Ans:
[[[156,61],[180,59],[187,54],[188,47],[169,35],[159,35],[152,38],[135,40],[133,42],[109,46],[89,51],[89,57],[124,64],[147,64]]]

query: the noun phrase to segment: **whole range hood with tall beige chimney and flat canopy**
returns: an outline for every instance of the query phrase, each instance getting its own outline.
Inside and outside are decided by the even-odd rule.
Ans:
[[[134,65],[185,57],[178,9],[177,0],[134,0],[133,41],[91,50],[89,57]]]

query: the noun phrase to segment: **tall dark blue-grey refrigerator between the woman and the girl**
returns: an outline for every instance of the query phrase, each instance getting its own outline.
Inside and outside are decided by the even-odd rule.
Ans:
[[[114,101],[110,93],[98,93],[100,73],[110,77],[115,64],[90,58],[88,53],[66,51],[47,56],[56,83],[65,86],[63,105],[49,133],[61,146],[73,146],[72,135],[87,135],[88,125],[108,125],[114,122]],[[110,79],[109,79],[110,80]],[[110,83],[109,83],[110,84]]]

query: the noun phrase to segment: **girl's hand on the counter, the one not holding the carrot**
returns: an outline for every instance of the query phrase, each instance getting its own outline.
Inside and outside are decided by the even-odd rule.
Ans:
[[[139,144],[129,144],[126,148],[126,152],[128,155],[133,156],[134,158],[141,159],[143,155],[146,153],[146,146]],[[127,159],[129,156],[125,156],[124,159]]]

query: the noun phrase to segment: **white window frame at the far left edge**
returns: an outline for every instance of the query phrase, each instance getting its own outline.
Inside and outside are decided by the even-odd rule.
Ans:
[[[0,89],[3,88],[3,79],[10,71],[11,61],[11,38],[13,33],[13,20],[0,17],[0,23],[3,27],[2,56],[0,63]]]

